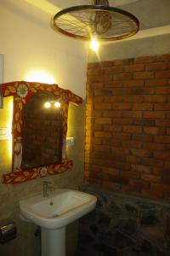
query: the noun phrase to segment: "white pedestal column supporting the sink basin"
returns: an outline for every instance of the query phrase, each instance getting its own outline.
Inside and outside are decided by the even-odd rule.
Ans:
[[[41,228],[41,256],[65,256],[65,227],[59,230]]]

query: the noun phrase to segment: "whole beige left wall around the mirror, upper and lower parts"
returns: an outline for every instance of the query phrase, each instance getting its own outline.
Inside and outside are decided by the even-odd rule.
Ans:
[[[50,27],[50,17],[42,10],[23,0],[0,1],[0,54],[4,55],[4,82],[26,79],[28,73],[42,72],[38,80],[56,83],[85,97],[87,53],[82,42],[59,35]],[[49,79],[43,79],[43,73]],[[85,104],[70,106],[68,136],[75,138],[75,145],[68,148],[68,159],[74,166],[68,172],[44,177],[18,185],[0,184],[0,220],[12,218],[18,227],[14,241],[0,244],[0,255],[37,256],[39,238],[34,236],[36,226],[19,218],[19,201],[42,192],[42,182],[48,180],[54,188],[77,188],[83,181]],[[0,113],[0,122],[2,114]],[[5,142],[3,142],[5,143]],[[6,144],[7,146],[7,144]],[[3,144],[0,141],[0,169],[9,170],[3,162]],[[6,168],[6,169],[5,169]],[[75,249],[76,238],[70,228],[69,250]],[[72,235],[73,234],[73,235]],[[22,245],[22,246],[20,246]]]

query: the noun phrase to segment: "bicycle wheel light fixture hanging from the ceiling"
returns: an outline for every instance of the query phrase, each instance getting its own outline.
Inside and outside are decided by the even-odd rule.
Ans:
[[[63,9],[54,15],[54,29],[71,38],[115,41],[139,31],[139,20],[122,9],[109,6],[108,0],[94,0],[94,5]]]

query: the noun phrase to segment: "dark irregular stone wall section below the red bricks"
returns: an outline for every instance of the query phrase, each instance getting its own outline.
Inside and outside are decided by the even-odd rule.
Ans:
[[[168,256],[170,205],[97,187],[97,207],[80,219],[78,256]]]

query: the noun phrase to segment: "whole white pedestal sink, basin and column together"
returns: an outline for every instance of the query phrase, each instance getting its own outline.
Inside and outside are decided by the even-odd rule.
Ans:
[[[20,201],[21,218],[41,227],[42,256],[65,256],[65,226],[91,212],[97,198],[72,189]]]

